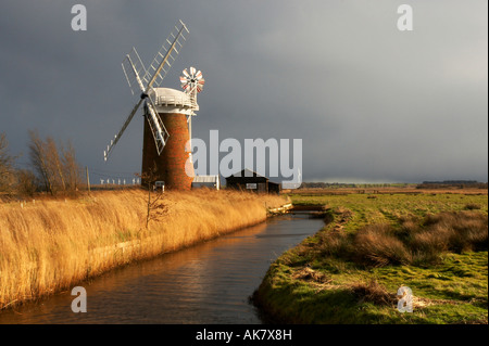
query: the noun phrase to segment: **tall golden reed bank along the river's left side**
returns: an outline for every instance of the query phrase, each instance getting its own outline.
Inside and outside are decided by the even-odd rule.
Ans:
[[[0,204],[0,309],[66,290],[266,219],[285,200],[237,191],[166,192],[151,208],[142,190]]]

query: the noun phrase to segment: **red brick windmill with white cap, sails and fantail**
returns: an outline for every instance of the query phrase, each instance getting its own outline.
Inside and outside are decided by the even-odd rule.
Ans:
[[[190,67],[180,77],[184,91],[160,88],[166,73],[179,53],[188,29],[180,21],[156,53],[150,67],[145,68],[139,54],[133,48],[123,61],[123,69],[133,94],[140,92],[122,129],[103,152],[106,161],[114,145],[129,125],[139,106],[143,105],[145,121],[142,143],[142,183],[164,181],[165,189],[190,190],[193,165],[189,140],[191,117],[199,111],[197,93],[204,85],[202,73]],[[187,145],[187,148],[186,148]]]

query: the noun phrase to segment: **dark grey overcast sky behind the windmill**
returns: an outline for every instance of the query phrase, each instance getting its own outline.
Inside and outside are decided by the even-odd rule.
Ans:
[[[74,31],[76,3],[87,30]],[[411,4],[414,30],[400,31]],[[148,65],[178,20],[181,69],[205,78],[193,137],[303,141],[305,181],[488,181],[486,0],[25,1],[0,3],[0,132],[28,163],[29,129],[71,139],[98,182],[140,170],[141,116],[121,62]],[[141,114],[141,112],[139,112]],[[90,177],[91,178],[91,177]]]

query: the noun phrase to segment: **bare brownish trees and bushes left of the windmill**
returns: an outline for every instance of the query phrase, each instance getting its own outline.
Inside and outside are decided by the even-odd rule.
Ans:
[[[51,195],[76,193],[80,185],[80,167],[71,141],[59,142],[37,131],[29,131],[28,168],[16,168],[18,156],[9,153],[5,133],[0,133],[0,193],[34,195],[45,191]]]

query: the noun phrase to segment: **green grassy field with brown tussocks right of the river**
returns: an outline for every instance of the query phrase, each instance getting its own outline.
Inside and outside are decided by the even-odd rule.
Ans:
[[[287,323],[487,323],[488,197],[296,193],[325,227],[281,255],[254,302]],[[413,292],[400,312],[398,289]]]

